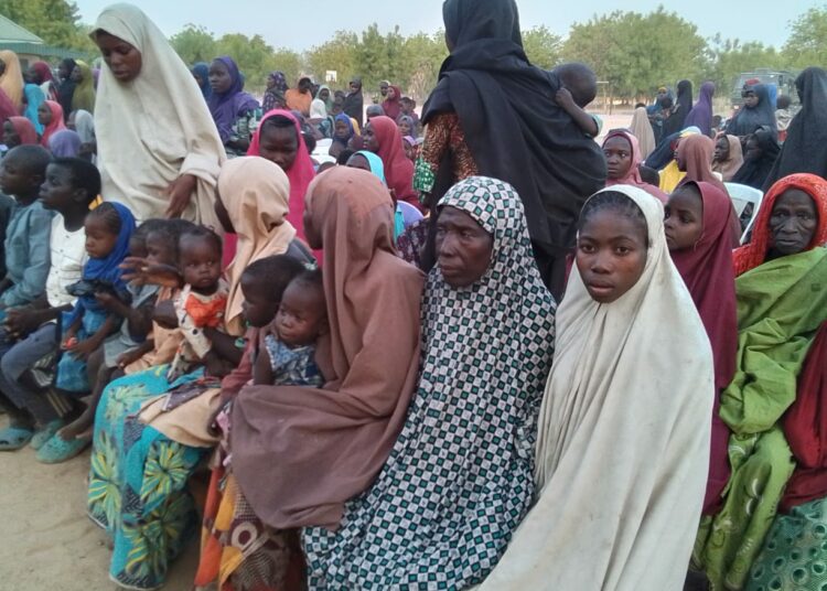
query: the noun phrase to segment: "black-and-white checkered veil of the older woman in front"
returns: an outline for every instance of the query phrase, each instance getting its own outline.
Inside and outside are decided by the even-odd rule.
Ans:
[[[428,276],[408,420],[340,529],[303,530],[310,589],[466,588],[493,569],[528,511],[556,304],[511,185],[470,178],[441,205],[493,236],[492,262],[466,288],[438,267]]]

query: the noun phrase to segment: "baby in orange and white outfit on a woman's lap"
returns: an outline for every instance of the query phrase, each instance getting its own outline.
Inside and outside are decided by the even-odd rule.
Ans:
[[[184,340],[170,365],[167,379],[174,383],[205,365],[211,375],[224,375],[217,367],[221,358],[204,334],[205,329],[224,325],[228,288],[222,279],[222,239],[213,230],[197,226],[184,232],[179,239],[179,270],[184,288],[174,299],[175,315]]]

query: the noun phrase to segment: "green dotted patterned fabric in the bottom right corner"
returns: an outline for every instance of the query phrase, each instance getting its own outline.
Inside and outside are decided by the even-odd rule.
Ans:
[[[775,518],[755,559],[747,591],[827,589],[827,498]]]

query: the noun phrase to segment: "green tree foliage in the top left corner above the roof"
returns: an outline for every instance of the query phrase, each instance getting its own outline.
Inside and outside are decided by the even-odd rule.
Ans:
[[[46,44],[94,52],[80,25],[77,4],[65,0],[0,0],[0,14],[30,30]]]

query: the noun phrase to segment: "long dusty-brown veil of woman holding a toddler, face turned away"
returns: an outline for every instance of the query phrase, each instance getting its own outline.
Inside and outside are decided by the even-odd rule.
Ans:
[[[248,386],[233,407],[233,470],[256,515],[276,528],[336,528],[405,422],[419,365],[423,278],[396,256],[394,206],[366,171],[332,169],[308,190],[324,247],[330,342],[324,388]],[[323,346],[326,345],[326,346]]]

